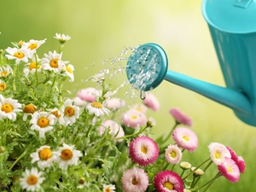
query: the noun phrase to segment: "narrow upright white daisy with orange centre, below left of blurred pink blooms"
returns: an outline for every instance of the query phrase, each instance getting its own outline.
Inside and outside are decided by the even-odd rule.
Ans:
[[[64,114],[65,125],[73,125],[79,118],[80,108],[73,105],[71,99],[67,99],[61,107],[61,113]]]

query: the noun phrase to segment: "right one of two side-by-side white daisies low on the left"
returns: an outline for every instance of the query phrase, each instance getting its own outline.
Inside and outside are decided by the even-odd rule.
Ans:
[[[74,149],[74,145],[67,145],[63,143],[63,147],[61,147],[56,154],[55,161],[59,163],[59,166],[63,170],[67,170],[69,165],[78,165],[79,157],[82,156],[82,153],[79,150]]]

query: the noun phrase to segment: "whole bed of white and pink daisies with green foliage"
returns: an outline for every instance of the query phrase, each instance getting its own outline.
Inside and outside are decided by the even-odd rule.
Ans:
[[[198,138],[178,108],[170,110],[172,131],[154,140],[156,122],[147,110],[158,111],[160,103],[146,92],[143,102],[128,105],[117,97],[126,83],[112,90],[109,69],[89,78],[95,87],[71,98],[63,84],[73,82],[74,67],[62,60],[70,37],[55,38],[58,51],[43,57],[37,51],[46,39],[1,50],[1,191],[183,192],[207,191],[221,176],[238,182],[245,162],[221,143],[210,143],[209,157],[197,166],[181,161],[198,147]],[[198,186],[212,164],[217,175]]]

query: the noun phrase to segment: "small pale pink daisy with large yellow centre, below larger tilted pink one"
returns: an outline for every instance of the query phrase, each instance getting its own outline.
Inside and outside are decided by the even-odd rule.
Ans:
[[[183,153],[177,145],[169,145],[166,148],[166,160],[171,164],[177,164],[182,159]]]

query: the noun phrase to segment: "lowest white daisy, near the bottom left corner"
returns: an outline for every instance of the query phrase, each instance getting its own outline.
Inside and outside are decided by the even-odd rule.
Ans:
[[[35,191],[40,188],[40,184],[43,183],[44,177],[42,177],[43,172],[38,172],[37,168],[32,168],[31,171],[25,170],[22,173],[20,178],[20,185],[22,189],[26,189],[27,191]]]

